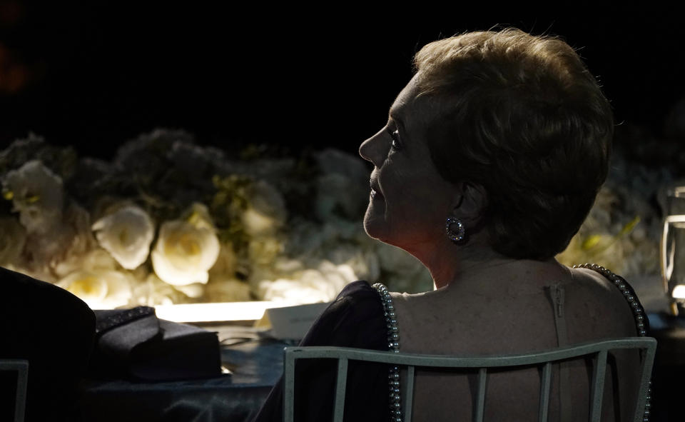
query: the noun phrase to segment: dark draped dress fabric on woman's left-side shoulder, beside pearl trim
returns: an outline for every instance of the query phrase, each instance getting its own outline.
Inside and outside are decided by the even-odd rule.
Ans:
[[[345,286],[319,316],[300,346],[343,346],[387,351],[382,303],[366,281]],[[295,421],[333,419],[335,361],[300,361],[295,368]],[[345,421],[389,421],[387,365],[350,361]],[[254,422],[283,420],[283,377],[274,386]]]

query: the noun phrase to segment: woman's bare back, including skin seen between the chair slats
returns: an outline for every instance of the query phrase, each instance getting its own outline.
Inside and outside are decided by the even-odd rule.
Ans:
[[[530,266],[519,266],[527,268],[525,271],[507,268],[499,279],[465,281],[419,295],[395,294],[400,350],[504,355],[636,336],[634,317],[624,295],[602,275],[543,263],[534,267],[537,270],[530,271]],[[613,354],[607,368],[602,420],[628,421],[636,391],[626,387],[639,383],[639,371],[635,371],[639,353]],[[568,366],[567,376],[564,370],[568,381],[562,382],[568,387],[562,388],[568,388],[572,397],[564,403],[569,418],[559,418],[560,378],[559,368],[554,368],[550,421],[584,421],[589,413],[592,366],[584,361],[572,361]],[[470,420],[476,380],[475,372],[417,370],[414,420]],[[539,380],[537,368],[490,371],[485,420],[537,421]],[[618,393],[617,398],[614,393]],[[617,413],[620,418],[614,416]]]

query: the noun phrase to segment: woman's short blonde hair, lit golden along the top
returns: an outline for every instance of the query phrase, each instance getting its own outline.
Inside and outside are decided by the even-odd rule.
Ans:
[[[547,259],[566,248],[607,177],[613,118],[579,56],[518,29],[462,34],[415,56],[432,160],[448,181],[480,184],[492,246]]]

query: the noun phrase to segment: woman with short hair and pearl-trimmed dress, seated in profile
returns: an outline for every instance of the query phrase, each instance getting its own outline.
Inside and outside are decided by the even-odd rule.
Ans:
[[[607,176],[613,133],[609,103],[573,49],[517,29],[475,32],[428,44],[415,66],[387,125],[360,146],[374,165],[366,232],[412,253],[435,282],[392,293],[399,350],[507,354],[644,330],[636,298],[631,306],[602,274],[554,259]],[[355,282],[303,344],[387,350],[385,322],[375,289]],[[636,398],[618,386],[636,385],[638,364],[617,353],[602,420],[631,415]],[[587,368],[555,372],[551,420],[587,418]],[[328,420],[332,369],[301,371],[296,420]],[[473,383],[417,371],[414,420],[470,420]],[[348,420],[390,418],[386,384],[382,368],[350,368]],[[258,420],[280,418],[279,388]],[[537,369],[493,373],[487,394],[486,420],[537,420]]]

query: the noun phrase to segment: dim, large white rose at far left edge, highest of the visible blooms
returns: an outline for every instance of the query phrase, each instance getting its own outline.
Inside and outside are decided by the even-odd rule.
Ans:
[[[29,233],[46,233],[59,225],[64,206],[62,179],[41,161],[28,161],[9,171],[3,181],[4,195]]]

